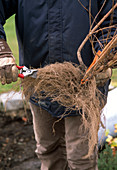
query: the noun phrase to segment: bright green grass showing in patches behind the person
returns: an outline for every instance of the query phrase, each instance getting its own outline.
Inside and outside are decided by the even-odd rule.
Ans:
[[[15,17],[12,16],[10,19],[7,20],[4,29],[6,32],[7,42],[14,54],[14,57],[16,59],[16,63],[19,63],[18,60],[18,44],[17,44],[17,38],[15,33]],[[117,69],[113,70],[113,76],[112,76],[112,83],[113,86],[117,87]],[[11,83],[7,85],[1,85],[0,84],[0,93],[8,92],[9,90],[13,89],[13,86],[16,85],[16,83]],[[17,85],[16,85],[17,86]]]

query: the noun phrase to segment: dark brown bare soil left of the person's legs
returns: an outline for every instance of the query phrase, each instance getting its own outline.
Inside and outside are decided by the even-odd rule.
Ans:
[[[31,113],[28,114],[29,121],[0,113],[0,170],[40,170]]]

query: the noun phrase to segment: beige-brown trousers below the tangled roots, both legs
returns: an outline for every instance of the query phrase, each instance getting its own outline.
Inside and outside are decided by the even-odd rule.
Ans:
[[[90,159],[82,159],[87,154],[88,143],[79,143],[85,134],[79,133],[80,116],[66,117],[55,124],[47,111],[30,104],[33,127],[37,142],[36,153],[41,160],[41,170],[97,170],[97,153]],[[69,168],[68,168],[69,167]]]

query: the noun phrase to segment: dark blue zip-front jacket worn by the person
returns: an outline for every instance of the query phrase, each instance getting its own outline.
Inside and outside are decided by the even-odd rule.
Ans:
[[[89,8],[89,0],[81,2],[85,8]],[[103,2],[104,0],[92,0],[92,21]],[[16,14],[20,65],[39,68],[57,61],[79,63],[77,49],[90,28],[89,12],[82,5],[78,0],[0,0],[0,38],[5,39],[5,20]],[[112,0],[107,0],[94,26],[111,7]],[[109,24],[110,17],[101,27]],[[113,24],[117,24],[117,9]],[[114,32],[115,29],[111,29],[111,34]],[[96,36],[101,40],[102,37],[107,37],[107,31],[103,31],[103,36],[102,32]],[[94,44],[94,48],[96,51],[101,48],[98,42]],[[94,58],[89,41],[82,50],[82,58],[87,66]]]

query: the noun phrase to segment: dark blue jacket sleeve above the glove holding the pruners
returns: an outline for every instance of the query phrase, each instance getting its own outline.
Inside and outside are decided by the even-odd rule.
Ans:
[[[6,39],[3,25],[17,11],[17,0],[0,0],[0,38]]]

